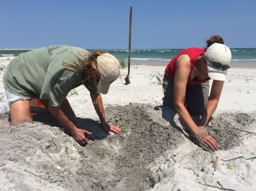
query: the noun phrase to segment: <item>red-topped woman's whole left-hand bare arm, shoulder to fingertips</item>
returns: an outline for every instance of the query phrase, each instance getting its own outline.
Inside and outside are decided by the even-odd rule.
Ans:
[[[200,131],[189,115],[189,112],[184,106],[186,95],[187,79],[190,74],[190,59],[188,55],[181,55],[177,60],[177,71],[174,78],[174,107],[176,108],[181,120],[194,134],[194,136],[206,146],[207,149],[215,151],[218,148],[216,141]]]

